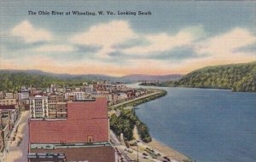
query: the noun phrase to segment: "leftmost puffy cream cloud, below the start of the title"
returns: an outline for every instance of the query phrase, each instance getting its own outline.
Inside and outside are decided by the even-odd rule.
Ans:
[[[41,28],[37,29],[27,20],[24,20],[19,25],[15,26],[11,30],[11,35],[22,38],[25,43],[49,42],[52,40],[50,32]]]

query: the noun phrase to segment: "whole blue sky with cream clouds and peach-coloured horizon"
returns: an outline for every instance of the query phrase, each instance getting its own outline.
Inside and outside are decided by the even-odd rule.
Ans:
[[[2,0],[0,8],[2,69],[166,74],[256,60],[252,1]],[[29,10],[105,15],[29,15]],[[117,14],[126,10],[152,14]]]

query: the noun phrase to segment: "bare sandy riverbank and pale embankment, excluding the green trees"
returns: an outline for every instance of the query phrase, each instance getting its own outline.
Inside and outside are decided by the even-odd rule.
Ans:
[[[144,97],[141,97],[139,99],[133,100],[133,101],[126,101],[123,104],[119,103],[116,107],[109,108],[111,111],[109,111],[109,114],[120,114],[120,111],[122,110],[132,110],[134,107],[136,107],[139,104],[142,104],[144,102],[152,101],[157,98],[160,98],[162,96],[166,95],[166,90],[154,90],[154,92],[150,95],[146,95]],[[141,122],[139,119],[137,119],[138,122]],[[139,153],[140,157],[143,158],[143,160],[140,161],[163,161],[167,159],[172,159],[173,162],[183,162],[183,161],[191,161],[189,157],[183,155],[183,153],[177,152],[175,149],[167,147],[165,144],[156,141],[155,139],[150,140],[150,142],[142,142],[141,135],[138,134],[137,125],[135,125],[134,130],[132,130],[133,138],[134,140],[131,140],[129,144],[131,145],[131,149],[133,152],[137,152],[137,147],[132,146],[135,143],[139,146]],[[150,137],[151,138],[151,137]],[[154,154],[152,153],[149,158],[150,151],[148,153],[148,150],[153,150]],[[128,156],[131,156],[131,159],[136,159],[136,153],[127,153]],[[168,161],[168,160],[167,160]]]

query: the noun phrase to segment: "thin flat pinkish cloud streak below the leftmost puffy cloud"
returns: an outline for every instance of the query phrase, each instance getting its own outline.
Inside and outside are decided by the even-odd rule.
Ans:
[[[71,45],[43,45],[40,46],[36,49],[34,49],[34,51],[36,52],[41,52],[41,53],[49,53],[49,52],[73,52],[74,50],[76,50],[73,46]]]

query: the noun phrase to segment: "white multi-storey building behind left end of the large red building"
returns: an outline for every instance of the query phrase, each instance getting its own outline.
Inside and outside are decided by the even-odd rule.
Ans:
[[[30,117],[32,119],[41,119],[49,117],[49,109],[48,109],[48,97],[42,95],[36,95],[33,97],[29,97],[30,102]]]

